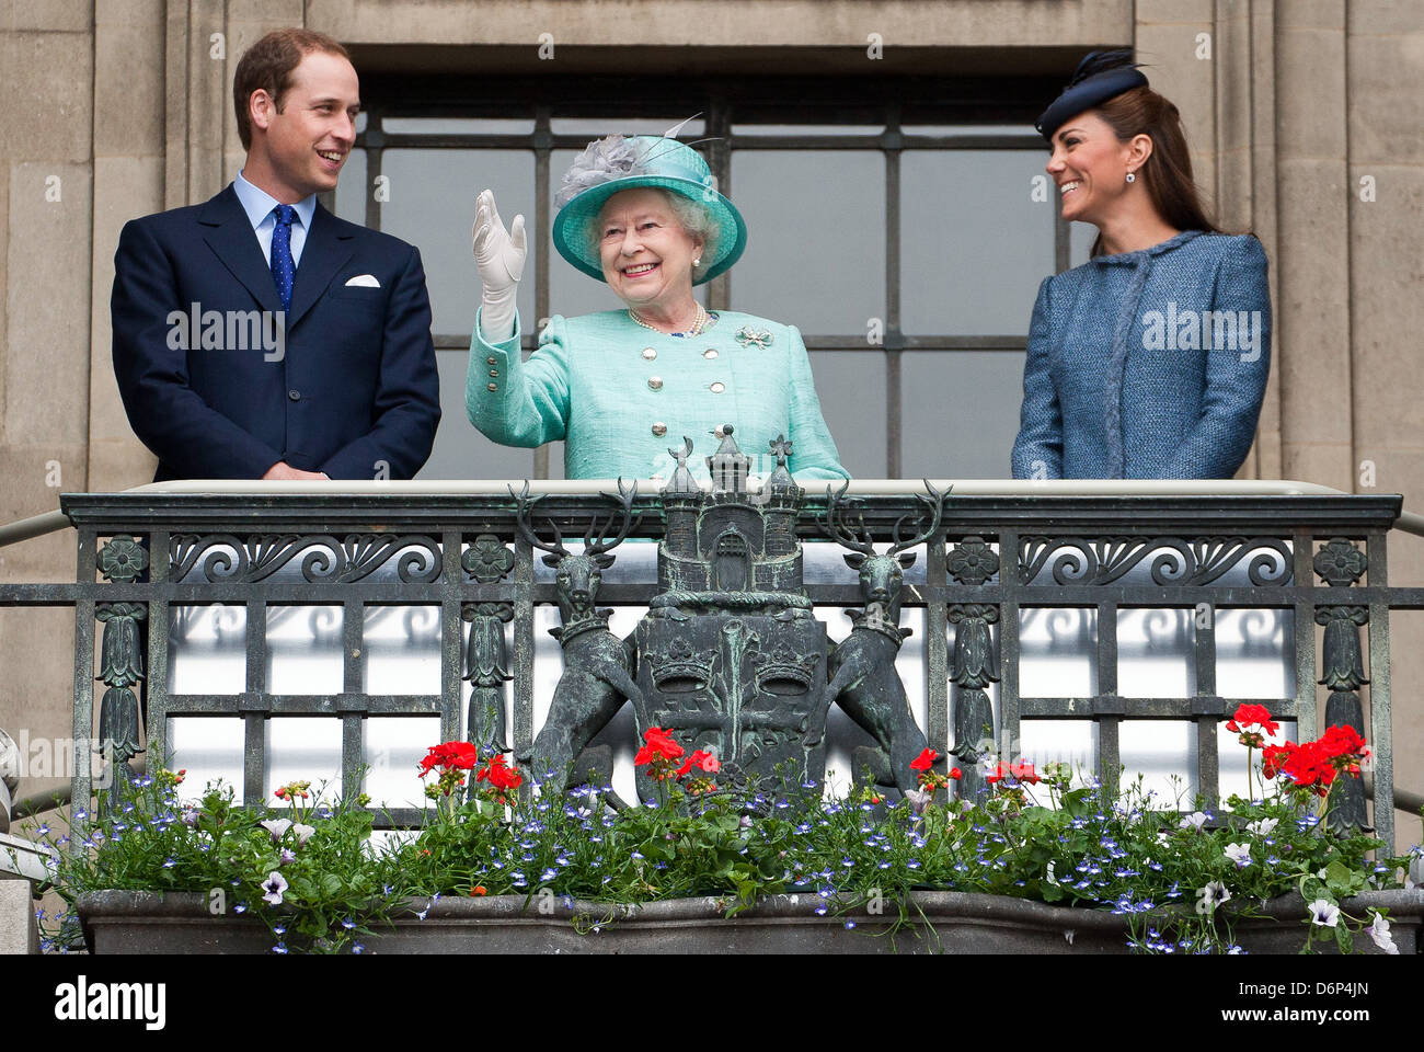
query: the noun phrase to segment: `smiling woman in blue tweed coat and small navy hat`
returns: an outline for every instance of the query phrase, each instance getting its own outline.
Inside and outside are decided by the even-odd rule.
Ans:
[[[1038,289],[1014,478],[1232,478],[1270,368],[1260,242],[1206,218],[1178,110],[1126,53],[1084,60],[1038,130],[1098,239]]]

